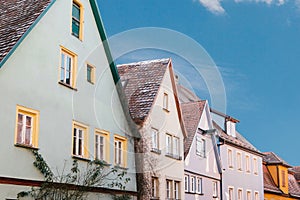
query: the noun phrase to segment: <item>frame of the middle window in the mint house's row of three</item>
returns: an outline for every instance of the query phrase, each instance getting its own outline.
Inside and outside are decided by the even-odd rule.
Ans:
[[[96,137],[103,137],[103,159],[101,159],[100,157],[98,158],[97,155],[101,154],[101,144],[99,144],[99,147],[97,147],[97,139]],[[109,136],[110,133],[108,131],[105,130],[100,130],[100,129],[95,129],[94,132],[94,159],[95,160],[100,160],[100,161],[105,161],[106,163],[109,163],[110,160],[110,148],[109,148]],[[99,152],[97,151],[99,148]]]

